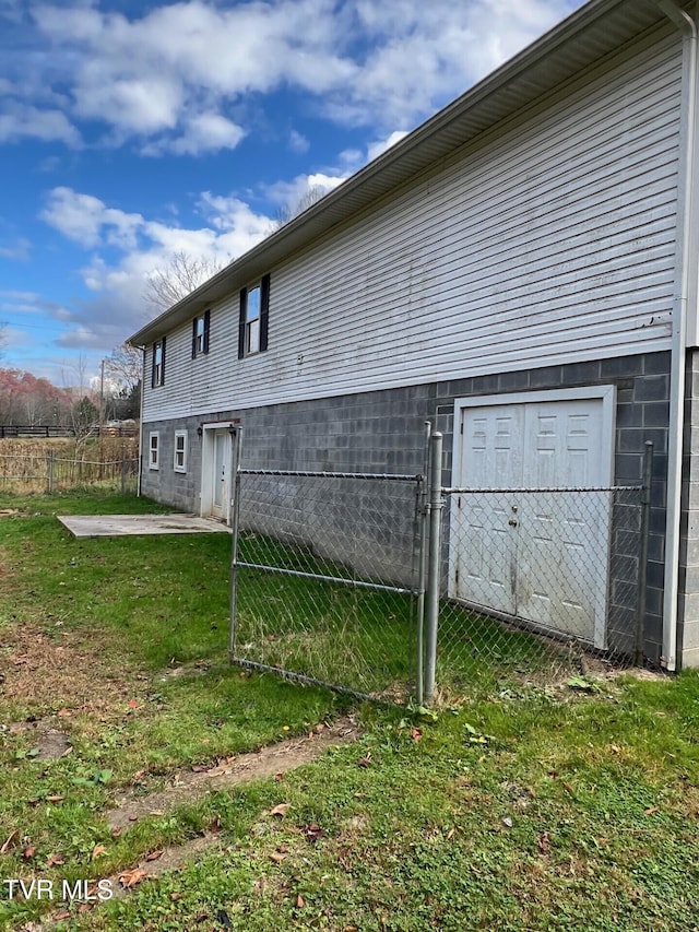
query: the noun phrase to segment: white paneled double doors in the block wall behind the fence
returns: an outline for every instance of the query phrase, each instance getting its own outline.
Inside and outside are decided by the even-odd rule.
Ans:
[[[451,594],[604,647],[613,390],[458,406]],[[579,392],[574,392],[579,394]],[[532,397],[525,397],[531,399]]]

